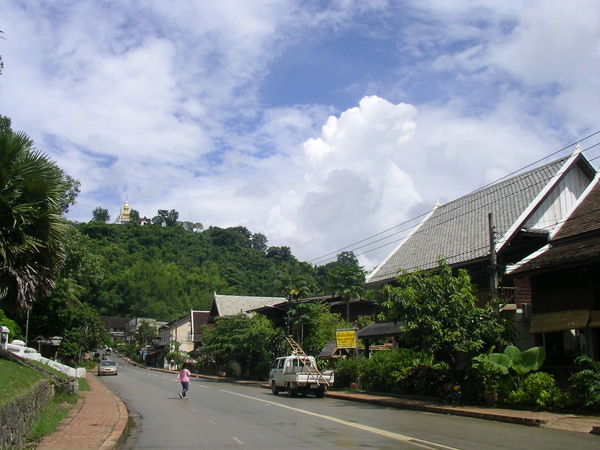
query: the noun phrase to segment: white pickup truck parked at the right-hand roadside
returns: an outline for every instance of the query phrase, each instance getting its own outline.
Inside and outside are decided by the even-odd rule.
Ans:
[[[269,386],[274,395],[287,391],[288,396],[299,393],[322,398],[334,381],[331,370],[321,373],[313,356],[282,356],[276,358],[269,372]]]

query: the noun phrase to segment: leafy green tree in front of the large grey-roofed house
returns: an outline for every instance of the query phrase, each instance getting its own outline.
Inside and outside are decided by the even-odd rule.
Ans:
[[[510,343],[509,325],[497,317],[494,307],[477,306],[466,270],[454,275],[440,261],[437,270],[404,272],[396,283],[397,287],[385,287],[382,318],[402,324],[408,347],[455,364],[458,352],[474,356]]]

